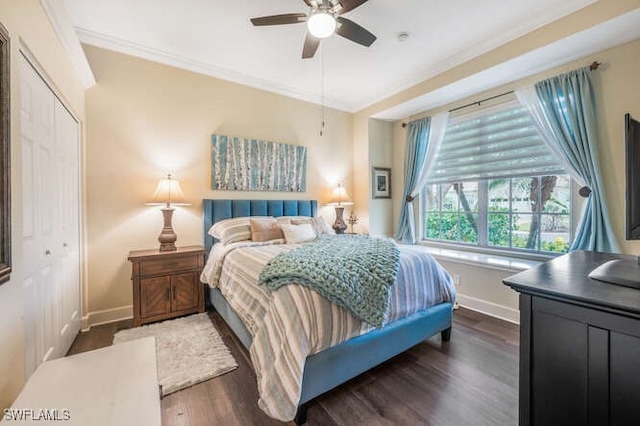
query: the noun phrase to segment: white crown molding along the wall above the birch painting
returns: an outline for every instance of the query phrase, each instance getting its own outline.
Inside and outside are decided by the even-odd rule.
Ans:
[[[237,71],[232,71],[230,69],[219,67],[210,63],[197,61],[195,59],[175,55],[159,49],[142,46],[137,43],[125,41],[116,37],[108,36],[103,33],[87,30],[85,28],[76,27],[76,33],[78,34],[80,42],[84,44],[113,50],[115,52],[124,53],[125,55],[147,59],[164,65],[170,65],[198,74],[204,74],[209,77],[215,77],[221,80],[227,80],[256,89],[284,95],[290,98],[299,99],[301,101],[323,105],[323,99],[321,96],[299,91],[285,85],[274,84],[260,78],[249,76]],[[341,111],[354,112],[353,105],[337,102],[330,98],[326,98],[324,100],[324,105]]]

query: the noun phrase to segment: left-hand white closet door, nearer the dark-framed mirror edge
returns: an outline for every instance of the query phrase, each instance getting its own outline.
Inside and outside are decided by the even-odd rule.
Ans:
[[[31,374],[53,353],[55,318],[49,303],[57,287],[53,271],[54,96],[21,60],[22,239],[26,370]],[[48,214],[44,214],[47,211]]]

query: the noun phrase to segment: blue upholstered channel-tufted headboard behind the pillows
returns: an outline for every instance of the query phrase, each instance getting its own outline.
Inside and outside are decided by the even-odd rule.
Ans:
[[[211,226],[231,217],[243,216],[317,216],[316,200],[202,200],[204,247],[209,253],[214,239],[207,233]]]

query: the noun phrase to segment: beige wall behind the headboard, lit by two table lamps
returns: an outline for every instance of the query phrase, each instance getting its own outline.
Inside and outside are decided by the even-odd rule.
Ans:
[[[201,199],[352,194],[351,115],[123,54],[85,46],[98,84],[87,91],[87,230],[90,323],[130,315],[133,249],[158,246],[158,207],[146,206],[170,171],[191,203],[178,207],[178,245],[202,243]],[[211,134],[304,145],[306,193],[210,190]],[[333,222],[333,209],[323,214]],[[347,213],[348,214],[348,213]]]

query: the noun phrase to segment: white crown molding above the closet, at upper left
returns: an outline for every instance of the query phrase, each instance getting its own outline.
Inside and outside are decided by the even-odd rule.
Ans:
[[[82,86],[88,89],[96,84],[96,79],[91,71],[87,57],[80,46],[80,40],[76,35],[71,20],[64,9],[63,2],[56,0],[40,0],[51,26],[55,31],[60,43],[67,51],[67,56],[71,66],[80,79]]]

